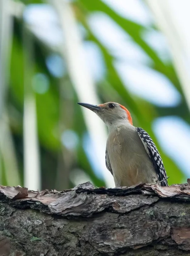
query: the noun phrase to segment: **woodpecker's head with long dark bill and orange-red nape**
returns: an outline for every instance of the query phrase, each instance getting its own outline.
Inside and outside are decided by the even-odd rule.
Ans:
[[[78,104],[95,112],[108,126],[124,122],[133,125],[130,112],[119,103],[107,102],[100,105],[91,105],[88,103],[78,102]]]

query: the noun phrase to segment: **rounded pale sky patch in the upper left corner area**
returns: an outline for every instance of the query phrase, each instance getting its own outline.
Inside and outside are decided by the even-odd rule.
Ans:
[[[28,5],[23,13],[24,20],[41,40],[58,47],[63,44],[63,34],[57,13],[48,4]]]

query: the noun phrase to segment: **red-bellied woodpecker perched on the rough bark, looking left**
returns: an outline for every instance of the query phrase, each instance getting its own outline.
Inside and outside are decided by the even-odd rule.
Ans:
[[[146,131],[133,126],[127,108],[116,102],[78,104],[94,111],[108,126],[105,163],[113,175],[116,187],[132,186],[139,182],[168,186],[156,145]]]

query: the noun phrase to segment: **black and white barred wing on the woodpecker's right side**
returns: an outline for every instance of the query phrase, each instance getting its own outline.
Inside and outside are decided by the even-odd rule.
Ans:
[[[147,132],[142,128],[136,128],[136,131],[139,134],[139,137],[142,140],[143,145],[145,146],[147,154],[149,155],[150,159],[153,162],[153,166],[156,170],[159,181],[167,178],[162,158],[159,154],[158,149],[156,148],[156,145],[153,143],[153,140],[150,138],[149,134],[147,134]],[[163,180],[161,182],[161,186],[168,186],[167,180]]]

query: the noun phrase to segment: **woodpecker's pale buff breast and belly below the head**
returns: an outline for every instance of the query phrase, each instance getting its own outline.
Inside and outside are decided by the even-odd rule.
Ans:
[[[107,150],[116,186],[150,183],[145,176],[145,170],[153,171],[153,164],[134,126],[122,125],[111,130]]]

